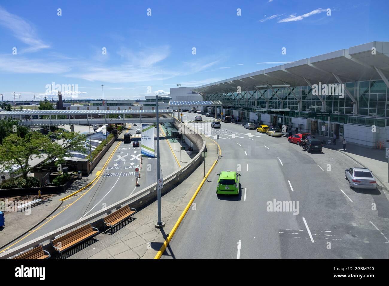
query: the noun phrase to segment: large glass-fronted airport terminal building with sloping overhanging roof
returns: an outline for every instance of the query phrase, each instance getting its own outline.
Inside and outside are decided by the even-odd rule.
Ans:
[[[388,78],[389,42],[370,42],[192,91],[223,102],[224,116],[389,147]]]

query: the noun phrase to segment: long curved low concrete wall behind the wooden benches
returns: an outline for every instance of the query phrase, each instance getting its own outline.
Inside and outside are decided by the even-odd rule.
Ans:
[[[198,135],[198,134],[196,134],[196,135]],[[177,186],[177,183],[180,182],[180,179],[181,179],[180,176],[185,177],[186,175],[188,175],[188,174],[186,174],[187,173],[186,171],[189,171],[192,168],[196,168],[196,167],[198,167],[198,165],[200,165],[200,163],[203,161],[202,152],[205,149],[205,141],[204,140],[203,140],[202,147],[199,149],[200,150],[196,154],[196,156],[193,157],[193,159],[191,161],[189,161],[189,163],[185,167],[182,167],[179,170],[177,170],[177,171],[173,172],[172,174],[163,178],[163,185],[164,185],[164,188],[162,189],[163,194],[167,193],[171,189],[175,188]],[[14,247],[14,248],[10,249],[9,251],[5,251],[4,253],[0,254],[0,259],[10,258],[10,257],[14,256],[15,254],[19,254],[21,251],[24,251],[24,250],[29,249],[31,247],[37,247],[37,246],[39,246],[39,244],[43,244],[44,242],[46,242],[48,240],[53,240],[58,235],[63,234],[69,230],[72,230],[73,228],[75,228],[77,226],[84,225],[85,223],[90,223],[93,219],[100,218],[104,215],[108,215],[114,209],[116,209],[116,210],[120,209],[120,207],[124,204],[131,204],[131,205],[134,205],[137,207],[145,205],[153,199],[152,194],[154,194],[154,191],[156,191],[156,188],[157,188],[157,183],[155,182],[151,186],[148,186],[147,188],[144,188],[144,189],[138,191],[137,193],[135,193],[127,198],[124,198],[123,200],[116,202],[115,204],[107,206],[102,211],[97,211],[97,212],[94,212],[93,214],[89,214],[85,218],[81,218],[77,221],[74,221],[74,222],[68,224],[68,225],[65,225],[61,228],[53,230],[52,232],[41,235],[40,237],[37,237],[36,239],[33,239],[29,242],[26,242],[20,246]],[[151,195],[148,200],[147,200],[147,198],[145,198],[147,195]],[[154,197],[156,197],[156,193],[155,193]],[[98,219],[97,221],[93,221],[92,223],[97,223],[101,219],[102,218]],[[47,247],[47,246],[44,246],[44,247]]]

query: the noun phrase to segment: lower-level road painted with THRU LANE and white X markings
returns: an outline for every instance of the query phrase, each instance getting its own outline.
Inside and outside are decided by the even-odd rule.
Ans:
[[[128,130],[128,132],[131,133],[131,136],[135,135],[137,127],[138,126],[134,126],[131,130]],[[119,139],[123,138],[123,134],[124,133],[120,135]],[[154,134],[156,135],[156,133]],[[135,140],[140,140],[140,138]],[[161,138],[159,142],[161,154],[161,174],[166,176],[175,170],[178,170],[179,167],[165,138]],[[35,231],[33,231],[33,233],[31,233],[28,237],[17,244],[12,242],[9,246],[19,246],[20,244],[39,237],[40,235],[56,230],[57,228],[76,221],[83,216],[99,211],[105,206],[122,200],[132,193],[136,193],[137,191],[156,182],[157,158],[143,158],[142,168],[140,169],[140,179],[138,181],[140,186],[135,186],[135,168],[140,167],[140,147],[134,148],[132,146],[132,141],[131,143],[124,144],[123,140],[120,139],[120,141],[114,142],[110,150],[112,151],[118,143],[119,147],[114,152],[105,169],[102,170],[102,176],[91,188],[88,187],[73,197],[65,200],[62,206],[52,214],[51,217],[55,216],[55,218],[48,222],[47,220],[44,221],[37,226]],[[100,166],[102,167],[104,163],[105,161],[100,161],[99,165],[96,166],[96,170],[99,170],[98,168]],[[26,219],[27,218],[28,217],[26,216]]]

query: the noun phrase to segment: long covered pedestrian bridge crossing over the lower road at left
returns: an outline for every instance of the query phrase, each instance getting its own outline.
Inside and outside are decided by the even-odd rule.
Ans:
[[[169,109],[159,109],[159,122],[173,122]],[[156,121],[156,110],[20,110],[0,109],[0,119],[13,118],[24,126],[95,125],[150,123]]]

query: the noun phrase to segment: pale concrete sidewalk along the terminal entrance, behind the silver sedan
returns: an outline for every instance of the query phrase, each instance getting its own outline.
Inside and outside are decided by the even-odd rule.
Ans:
[[[325,140],[326,142],[329,140],[328,137],[324,136],[315,135],[315,137],[319,140]],[[368,168],[373,172],[373,175],[380,184],[389,190],[388,159],[385,158],[385,149],[372,149],[347,143],[346,149],[343,151],[342,141],[339,139],[336,139],[335,145],[333,145],[333,139],[331,139],[331,144],[324,144],[323,147],[337,150],[357,161],[361,167]]]

